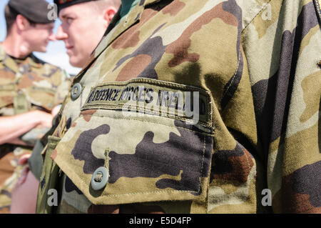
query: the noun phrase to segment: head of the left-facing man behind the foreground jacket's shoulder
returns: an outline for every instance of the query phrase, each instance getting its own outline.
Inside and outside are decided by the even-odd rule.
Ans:
[[[61,26],[56,39],[65,42],[72,66],[85,66],[120,4],[120,0],[68,1],[64,4],[59,11]]]

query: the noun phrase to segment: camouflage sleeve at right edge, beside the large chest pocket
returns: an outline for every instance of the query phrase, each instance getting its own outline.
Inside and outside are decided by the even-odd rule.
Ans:
[[[275,213],[321,212],[320,40],[317,0],[270,1],[242,33]]]

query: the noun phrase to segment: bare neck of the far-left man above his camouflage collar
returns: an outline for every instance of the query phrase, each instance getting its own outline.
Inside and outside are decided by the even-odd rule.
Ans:
[[[17,59],[24,59],[32,52],[24,40],[14,35],[6,36],[6,39],[2,42],[2,48],[6,54]]]

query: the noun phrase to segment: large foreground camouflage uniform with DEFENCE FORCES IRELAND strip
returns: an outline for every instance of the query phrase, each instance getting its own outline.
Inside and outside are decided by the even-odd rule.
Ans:
[[[49,137],[37,212],[321,212],[317,1],[141,0],[118,19]]]

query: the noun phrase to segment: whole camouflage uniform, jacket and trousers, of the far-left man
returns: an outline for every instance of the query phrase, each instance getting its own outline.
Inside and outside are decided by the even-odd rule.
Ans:
[[[9,117],[26,111],[39,109],[51,113],[63,102],[70,80],[65,71],[44,63],[33,54],[26,59],[13,59],[0,44],[0,117]],[[22,166],[18,160],[31,153],[37,139],[49,129],[35,128],[19,139],[26,146],[0,145],[0,212],[9,212],[11,190]]]

